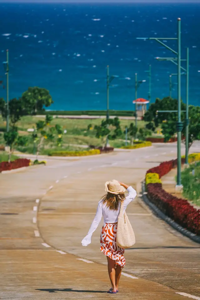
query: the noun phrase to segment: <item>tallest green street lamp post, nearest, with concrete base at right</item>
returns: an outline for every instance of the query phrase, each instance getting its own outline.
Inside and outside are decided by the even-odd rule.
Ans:
[[[156,40],[162,46],[166,47],[168,50],[173,52],[176,55],[176,58],[160,58],[160,60],[168,60],[177,65],[177,73],[178,73],[178,122],[177,122],[177,190],[182,190],[183,185],[181,184],[181,132],[183,130],[183,122],[181,122],[181,19],[178,18],[178,36],[177,37],[149,37],[149,38],[138,38],[143,40]],[[162,40],[177,40],[178,43],[178,51],[173,50],[169,46],[167,46]],[[159,59],[159,58],[158,58]],[[175,62],[177,61],[177,63]],[[185,71],[185,69],[184,69]]]

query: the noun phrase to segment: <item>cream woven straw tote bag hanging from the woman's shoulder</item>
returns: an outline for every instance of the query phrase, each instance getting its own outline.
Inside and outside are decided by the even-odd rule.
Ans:
[[[118,217],[117,245],[123,249],[127,249],[135,244],[135,234],[126,212],[123,213],[123,206],[122,202]]]

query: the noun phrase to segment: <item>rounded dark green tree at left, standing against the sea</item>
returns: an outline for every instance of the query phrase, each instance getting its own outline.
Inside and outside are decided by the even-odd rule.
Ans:
[[[22,94],[22,102],[26,107],[28,115],[33,115],[41,111],[43,106],[49,107],[52,103],[52,97],[45,88],[30,87]]]

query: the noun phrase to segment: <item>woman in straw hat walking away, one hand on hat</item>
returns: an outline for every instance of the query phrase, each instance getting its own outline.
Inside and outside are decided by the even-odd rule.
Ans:
[[[126,189],[128,191],[127,197],[124,195]],[[91,243],[92,234],[97,229],[103,215],[104,224],[101,231],[100,250],[106,255],[108,260],[108,274],[112,284],[108,293],[115,294],[118,292],[119,279],[126,262],[123,256],[124,249],[118,247],[116,243],[119,210],[123,202],[123,211],[125,212],[128,204],[133,201],[137,193],[133,187],[117,180],[107,181],[105,183],[105,191],[107,194],[98,203],[96,216],[88,231],[88,235],[82,240],[82,245],[88,246]]]

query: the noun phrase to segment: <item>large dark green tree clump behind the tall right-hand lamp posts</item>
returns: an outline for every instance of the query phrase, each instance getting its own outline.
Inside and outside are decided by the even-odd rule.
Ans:
[[[164,140],[167,142],[177,133],[178,113],[157,113],[159,110],[178,110],[178,101],[170,97],[157,98],[156,102],[151,104],[150,108],[144,115],[144,121],[149,122],[146,128],[155,130],[161,125]],[[186,110],[186,104],[181,101],[181,110]],[[183,122],[182,137],[185,137],[186,123],[185,112],[181,113],[181,120]],[[200,107],[189,106],[189,147],[195,140],[200,140]],[[183,139],[185,143],[185,139]]]

